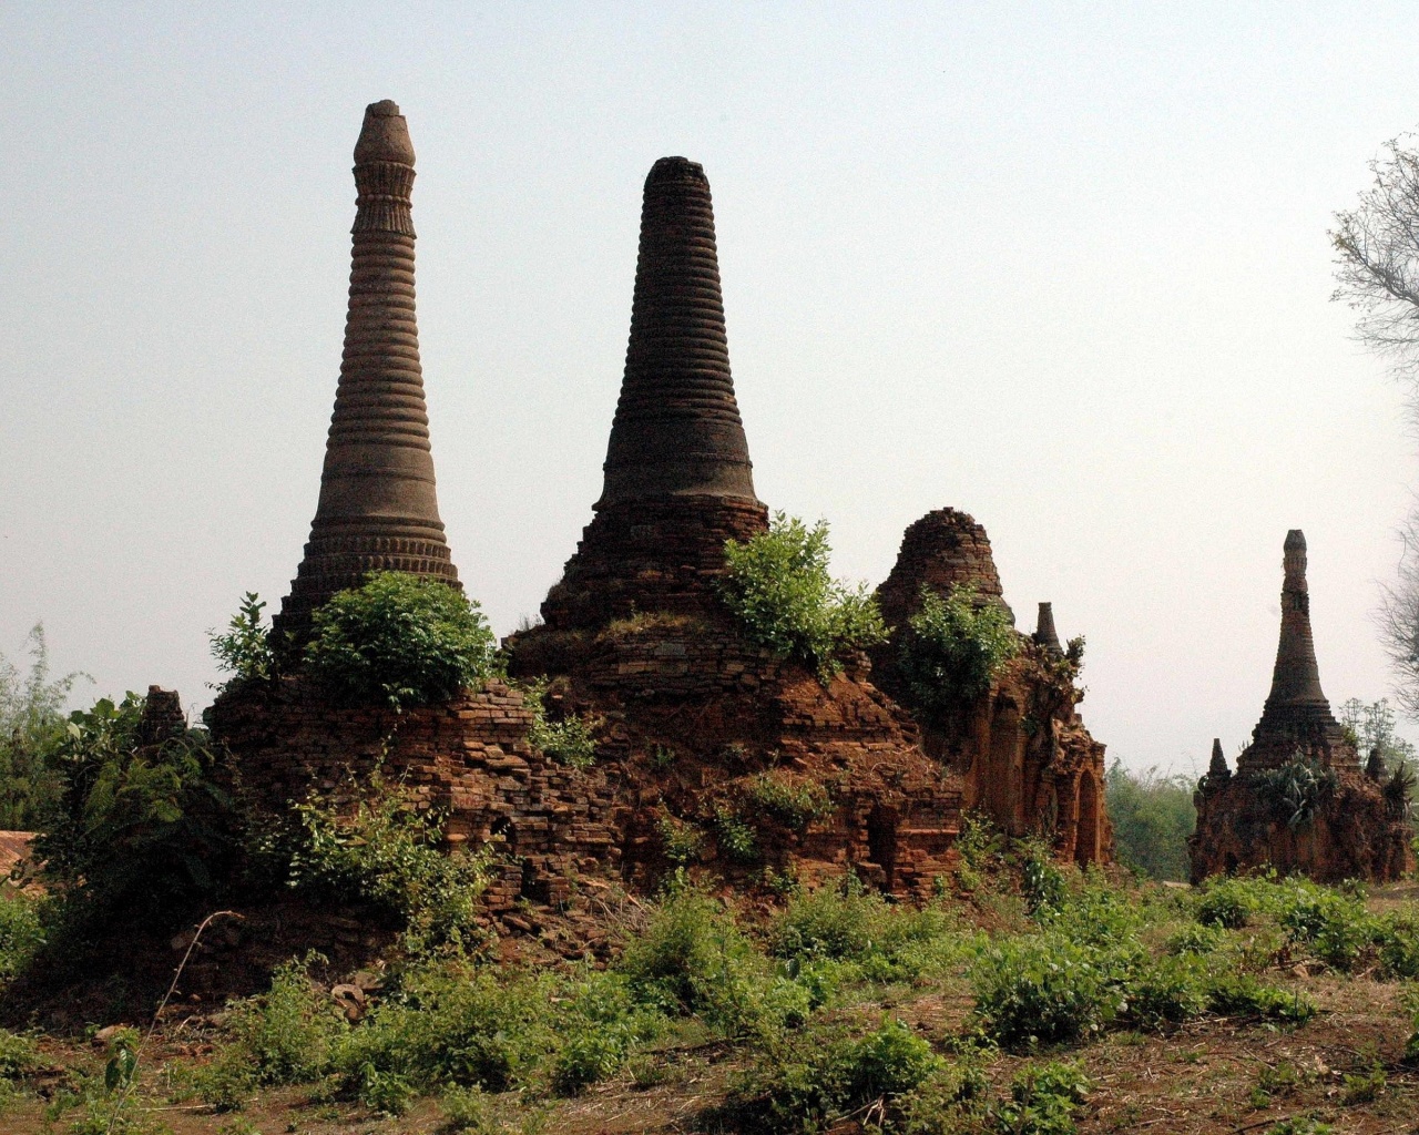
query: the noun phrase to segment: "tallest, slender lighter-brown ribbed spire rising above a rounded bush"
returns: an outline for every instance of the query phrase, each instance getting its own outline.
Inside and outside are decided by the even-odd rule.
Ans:
[[[458,586],[438,519],[419,363],[413,184],[404,116],[387,99],[370,104],[355,143],[349,314],[321,499],[275,620],[278,631],[297,640],[315,607],[370,572],[412,572]]]

